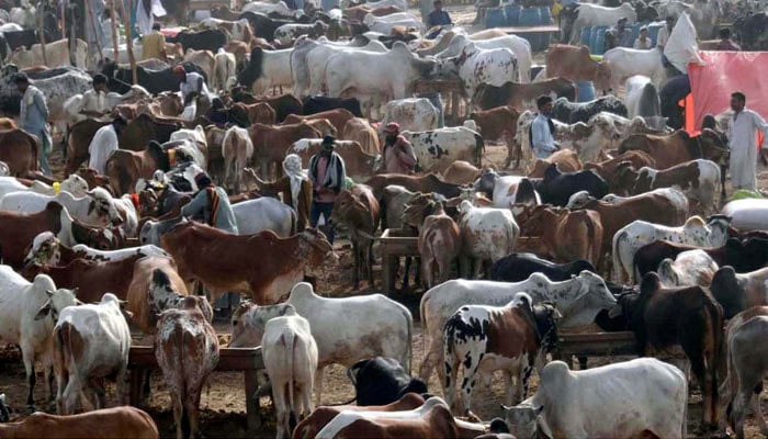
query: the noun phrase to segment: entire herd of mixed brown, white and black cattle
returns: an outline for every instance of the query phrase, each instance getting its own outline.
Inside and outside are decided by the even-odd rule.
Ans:
[[[123,403],[132,329],[155,340],[177,437],[199,435],[201,392],[221,350],[214,311],[194,294],[201,285],[211,301],[248,297],[231,314],[228,347],[261,346],[269,382],[258,395],[272,396],[278,438],[685,438],[690,372],[703,431],[730,424],[743,437],[752,407],[768,434],[759,405],[768,230],[739,229],[719,213],[727,139],[666,126],[660,57],[596,61],[585,47],[552,45],[545,74],[531,82],[526,40],[454,27],[429,41],[402,0],[328,12],[255,1],[212,14],[168,38],[170,65],[139,63],[133,86],[129,67],[95,67],[66,41],[48,44],[49,68],[39,67],[39,46],[8,54],[18,65],[0,71],[0,101],[18,105],[11,78],[25,71],[66,133],[66,162],[63,181],[43,176],[37,139],[0,121],[0,342],[21,348],[27,406],[41,362],[58,413],[7,423],[0,395],[0,437],[158,437],[140,409],[104,408],[105,380]],[[11,49],[18,32],[34,36],[2,31]],[[70,58],[77,67],[59,66]],[[180,116],[174,65],[206,78],[226,125],[206,119],[203,101],[192,120]],[[91,87],[86,67],[108,76],[114,114],[128,121],[105,175],[82,167],[95,131],[110,123],[76,110]],[[414,95],[417,83],[447,78],[465,101],[466,117],[450,121],[458,126],[443,126],[439,95]],[[625,93],[577,103],[575,81]],[[562,149],[534,159],[531,105],[542,94],[557,97]],[[416,173],[379,172],[373,114],[405,130]],[[339,138],[353,180],[330,219],[354,238],[354,290],[361,273],[375,288],[380,233],[418,237],[416,282],[427,289],[418,378],[409,309],[381,294],[326,297],[323,275],[310,278],[318,285],[304,282],[338,263],[334,246],[260,193],[287,154],[306,167],[325,135]],[[516,161],[522,172],[489,162],[493,140],[507,146],[502,169]],[[202,171],[231,193],[239,235],[178,216]],[[406,258],[404,286],[410,264]],[[587,371],[547,363],[561,333],[585,327],[634,333],[643,358]],[[330,364],[349,368],[358,405],[319,406]],[[444,399],[428,394],[432,371]],[[505,418],[488,428],[472,396],[496,371],[506,382]]]

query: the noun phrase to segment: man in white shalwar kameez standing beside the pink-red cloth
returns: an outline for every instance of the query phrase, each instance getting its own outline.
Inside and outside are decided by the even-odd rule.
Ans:
[[[768,124],[759,114],[745,108],[746,97],[737,91],[731,94],[733,119],[729,123],[729,147],[731,148],[731,184],[734,190],[757,188],[757,130],[764,133],[760,148],[768,138]]]

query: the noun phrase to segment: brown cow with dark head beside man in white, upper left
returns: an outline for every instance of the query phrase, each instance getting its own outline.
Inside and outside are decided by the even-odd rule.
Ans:
[[[135,193],[138,179],[150,179],[156,170],[170,169],[168,154],[157,142],[150,142],[145,150],[117,149],[106,159],[104,170],[116,194]]]

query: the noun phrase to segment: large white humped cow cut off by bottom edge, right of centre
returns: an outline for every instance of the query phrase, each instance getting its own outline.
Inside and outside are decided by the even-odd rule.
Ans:
[[[629,4],[629,3],[624,3]],[[642,379],[639,379],[642,376]],[[686,437],[688,380],[676,367],[639,358],[586,371],[563,361],[544,367],[537,393],[504,407],[519,439],[537,437]]]

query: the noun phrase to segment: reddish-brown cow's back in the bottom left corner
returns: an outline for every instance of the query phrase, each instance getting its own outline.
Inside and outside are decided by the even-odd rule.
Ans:
[[[146,412],[131,406],[58,416],[35,412],[18,423],[0,424],[2,438],[158,439],[157,426]]]

